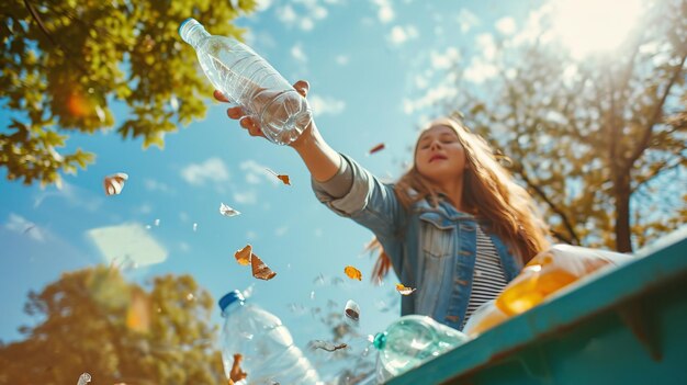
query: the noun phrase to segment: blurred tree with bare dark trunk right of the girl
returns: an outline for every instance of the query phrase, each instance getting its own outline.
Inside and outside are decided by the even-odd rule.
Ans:
[[[687,219],[687,1],[650,4],[618,52],[582,63],[545,30],[500,41],[493,89],[465,90],[454,109],[562,241],[629,252]]]

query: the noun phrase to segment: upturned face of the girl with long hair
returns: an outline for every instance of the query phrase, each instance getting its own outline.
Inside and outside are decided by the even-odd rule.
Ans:
[[[423,177],[438,184],[462,178],[465,149],[455,131],[444,125],[426,129],[417,141],[415,167]]]

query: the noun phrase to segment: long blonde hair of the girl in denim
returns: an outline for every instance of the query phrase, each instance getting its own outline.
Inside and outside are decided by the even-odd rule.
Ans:
[[[538,214],[532,197],[498,162],[486,140],[471,133],[461,122],[450,117],[430,122],[420,131],[420,136],[423,132],[435,126],[452,128],[465,150],[463,202],[455,202],[455,204],[461,205],[462,210],[469,214],[489,220],[493,231],[504,240],[513,253],[520,258],[523,264],[538,252],[547,249],[549,229]],[[413,167],[394,186],[396,197],[406,210],[420,200],[428,200],[432,206],[439,203],[437,186],[417,170],[416,152],[417,141],[413,152]],[[381,282],[388,273],[391,260],[376,238],[373,238],[365,249],[380,251],[372,271],[372,279]]]

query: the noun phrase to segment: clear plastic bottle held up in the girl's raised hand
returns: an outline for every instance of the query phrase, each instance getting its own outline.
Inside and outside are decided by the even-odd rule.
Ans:
[[[305,98],[250,47],[232,37],[211,35],[194,19],[184,20],[179,34],[198,53],[215,89],[259,122],[272,143],[292,143],[311,123]]]

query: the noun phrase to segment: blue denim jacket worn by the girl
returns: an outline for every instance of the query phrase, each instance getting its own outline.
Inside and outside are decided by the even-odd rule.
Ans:
[[[476,254],[476,226],[491,237],[500,258],[506,280],[513,280],[521,263],[489,230],[489,224],[455,210],[441,200],[437,207],[427,201],[405,210],[393,191],[352,159],[353,184],[345,196],[328,195],[313,180],[317,199],[335,213],[369,228],[388,254],[399,282],[416,287],[403,296],[401,315],[420,314],[460,329],[463,325]]]

